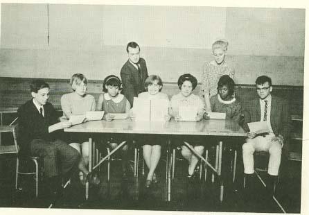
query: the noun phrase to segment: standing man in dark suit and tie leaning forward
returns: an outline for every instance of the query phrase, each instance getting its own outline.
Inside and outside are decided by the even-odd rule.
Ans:
[[[121,80],[123,82],[123,92],[127,100],[133,106],[133,98],[141,92],[145,92],[145,80],[148,78],[146,62],[139,57],[141,49],[136,42],[127,44],[127,55],[129,59],[121,68]]]

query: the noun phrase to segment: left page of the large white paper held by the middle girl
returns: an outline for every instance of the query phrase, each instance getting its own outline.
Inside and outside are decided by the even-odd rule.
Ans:
[[[134,97],[135,121],[150,121],[150,100]]]

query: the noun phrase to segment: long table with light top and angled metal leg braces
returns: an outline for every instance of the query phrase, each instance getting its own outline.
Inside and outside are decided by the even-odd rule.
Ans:
[[[107,160],[107,157],[112,155],[118,148],[121,148],[125,141],[118,145],[114,150],[112,150],[108,155],[103,157],[102,160],[96,166],[92,164],[92,145],[93,145],[93,136],[97,133],[114,133],[114,134],[126,134],[126,135],[165,135],[168,139],[171,139],[175,136],[186,137],[190,139],[191,136],[213,136],[218,137],[218,151],[217,159],[215,166],[211,165],[208,160],[204,157],[198,155],[207,166],[209,166],[213,173],[218,175],[220,180],[220,201],[223,199],[223,182],[221,178],[221,169],[222,169],[222,147],[223,139],[227,137],[246,137],[247,134],[242,130],[238,123],[229,120],[202,120],[198,122],[188,122],[188,121],[175,121],[171,120],[169,122],[160,122],[160,121],[132,121],[131,119],[124,120],[114,120],[114,121],[88,121],[71,128],[65,128],[64,132],[84,132],[89,135],[89,171],[96,169],[103,161]],[[170,142],[170,141],[168,141]],[[184,142],[189,148],[190,145]],[[168,144],[170,145],[170,144]],[[193,153],[197,155],[195,150]],[[170,162],[170,161],[167,161]],[[170,165],[168,169],[168,201],[170,201],[170,190],[171,190],[171,178],[170,178]],[[89,184],[86,184],[86,198],[88,198],[88,187]]]

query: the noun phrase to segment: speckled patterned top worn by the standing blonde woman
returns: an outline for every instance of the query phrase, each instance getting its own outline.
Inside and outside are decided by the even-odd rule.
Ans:
[[[217,86],[219,78],[228,75],[234,78],[235,70],[231,69],[225,62],[224,65],[213,65],[206,62],[203,67],[202,74],[202,95],[209,93],[209,97],[218,93]]]

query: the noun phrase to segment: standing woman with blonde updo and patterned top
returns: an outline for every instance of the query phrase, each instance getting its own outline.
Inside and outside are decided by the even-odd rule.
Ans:
[[[221,76],[228,75],[234,78],[235,70],[225,62],[228,42],[218,40],[213,43],[212,50],[214,60],[206,62],[202,74],[202,95],[205,99],[206,112],[211,112],[210,98],[217,94],[217,83]]]

